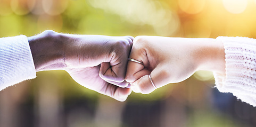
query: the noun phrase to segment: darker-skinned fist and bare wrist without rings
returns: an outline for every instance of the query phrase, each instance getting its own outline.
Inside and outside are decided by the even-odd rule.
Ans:
[[[45,31],[29,37],[36,71],[62,69],[82,86],[125,101],[125,81],[133,37],[74,35]]]

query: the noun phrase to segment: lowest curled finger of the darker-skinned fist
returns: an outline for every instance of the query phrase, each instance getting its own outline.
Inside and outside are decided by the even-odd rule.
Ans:
[[[130,88],[121,88],[112,84],[108,84],[101,91],[103,94],[117,99],[120,102],[126,101],[127,97],[131,94]]]

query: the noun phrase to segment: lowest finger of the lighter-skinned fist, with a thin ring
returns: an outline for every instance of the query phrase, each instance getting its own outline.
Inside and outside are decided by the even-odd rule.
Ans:
[[[156,88],[159,88],[168,84],[169,78],[170,78],[169,73],[166,70],[159,69],[159,68],[160,67],[156,67],[150,74]],[[136,80],[131,85],[131,89],[137,93],[142,93],[142,94],[149,94],[155,90],[148,75],[144,75],[138,80]]]

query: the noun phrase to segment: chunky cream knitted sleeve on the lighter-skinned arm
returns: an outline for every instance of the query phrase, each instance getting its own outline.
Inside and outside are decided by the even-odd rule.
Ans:
[[[226,74],[213,72],[220,92],[256,106],[256,40],[243,37],[218,37],[225,48]]]

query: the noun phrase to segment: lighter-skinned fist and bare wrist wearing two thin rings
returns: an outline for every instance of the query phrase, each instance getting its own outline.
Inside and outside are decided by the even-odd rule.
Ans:
[[[148,94],[156,87],[178,83],[197,70],[225,73],[225,52],[216,39],[188,39],[141,36],[134,40],[130,57],[143,65],[128,62],[126,81],[136,93]]]

